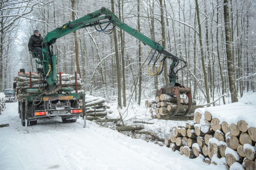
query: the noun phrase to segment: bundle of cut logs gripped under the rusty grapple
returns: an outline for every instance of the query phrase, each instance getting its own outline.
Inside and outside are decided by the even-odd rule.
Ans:
[[[202,106],[196,106],[196,101],[193,100],[190,112],[186,116],[182,116],[188,108],[188,100],[181,98],[179,112],[175,116],[170,116],[176,110],[177,99],[174,96],[165,94],[157,96],[155,100],[146,100],[145,107],[150,108],[152,118],[163,120],[193,120],[195,109],[202,108]]]

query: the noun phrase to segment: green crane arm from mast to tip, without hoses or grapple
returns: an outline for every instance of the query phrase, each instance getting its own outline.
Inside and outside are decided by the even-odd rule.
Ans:
[[[104,15],[103,15],[104,14]],[[103,16],[101,16],[103,15]],[[118,17],[112,13],[110,10],[108,10],[105,7],[102,7],[100,10],[95,11],[93,13],[87,14],[84,17],[81,17],[79,19],[76,19],[74,21],[70,21],[66,24],[63,24],[62,27],[58,27],[55,30],[47,33],[47,35],[43,38],[43,55],[44,55],[44,74],[48,72],[48,70],[51,69],[51,72],[49,73],[48,77],[46,78],[49,85],[55,85],[57,80],[56,75],[56,56],[53,55],[54,50],[53,44],[55,43],[56,39],[63,37],[69,33],[72,33],[78,29],[86,28],[86,27],[93,27],[97,24],[103,24],[103,23],[109,23],[112,21],[112,24],[119,27],[120,29],[124,30],[125,32],[129,33],[130,35],[134,36],[138,40],[142,41],[144,44],[150,46],[153,49],[156,49],[159,53],[162,53],[163,55],[167,56],[168,58],[171,58],[173,60],[171,66],[170,66],[170,82],[176,83],[176,74],[174,72],[174,66],[176,66],[176,63],[178,59],[175,55],[171,54],[169,51],[167,51],[163,46],[160,44],[157,44],[152,39],[148,38],[147,36],[141,34],[136,29],[133,29],[129,26],[127,26],[125,23],[119,21]],[[156,46],[157,44],[157,46]],[[49,48],[51,47],[51,49]],[[48,63],[47,63],[48,62]],[[49,67],[49,63],[51,63],[52,68]]]

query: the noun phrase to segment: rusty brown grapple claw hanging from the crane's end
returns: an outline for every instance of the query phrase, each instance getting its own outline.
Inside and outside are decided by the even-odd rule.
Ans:
[[[156,95],[160,96],[161,94],[176,96],[177,107],[175,112],[171,113],[170,116],[175,116],[179,112],[180,105],[181,105],[181,94],[185,94],[188,97],[188,108],[185,114],[182,116],[186,116],[189,113],[192,106],[192,97],[191,97],[190,88],[185,88],[183,85],[179,83],[168,83],[165,87],[162,87],[160,90],[157,90]]]

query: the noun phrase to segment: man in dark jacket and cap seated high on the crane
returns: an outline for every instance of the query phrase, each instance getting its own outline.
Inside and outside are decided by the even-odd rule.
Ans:
[[[34,34],[31,35],[29,41],[28,41],[28,52],[29,54],[32,51],[37,51],[39,54],[39,58],[42,61],[43,60],[43,54],[42,54],[42,37],[38,30],[34,30]]]

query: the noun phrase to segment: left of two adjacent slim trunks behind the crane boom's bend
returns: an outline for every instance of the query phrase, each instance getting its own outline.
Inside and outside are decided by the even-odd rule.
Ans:
[[[113,13],[115,13],[114,9],[114,0],[111,0],[111,10]],[[117,37],[116,37],[116,28],[113,30],[114,35],[114,43],[115,43],[115,56],[116,56],[116,75],[117,75],[117,101],[118,106],[122,108],[122,96],[121,96],[121,70],[120,70],[120,64],[119,64],[119,55],[118,55],[118,43],[117,43]]]

